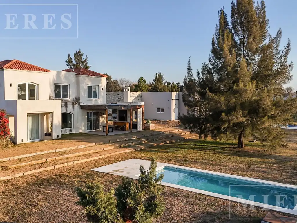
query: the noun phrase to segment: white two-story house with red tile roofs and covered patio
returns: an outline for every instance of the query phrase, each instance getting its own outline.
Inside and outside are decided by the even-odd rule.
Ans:
[[[14,143],[103,130],[110,109],[118,110],[118,121],[131,124],[131,131],[143,130],[143,103],[106,104],[106,77],[84,68],[55,71],[15,59],[1,61],[0,109],[9,114]]]

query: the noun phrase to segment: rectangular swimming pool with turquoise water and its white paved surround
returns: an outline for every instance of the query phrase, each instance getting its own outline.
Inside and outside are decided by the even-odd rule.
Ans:
[[[129,159],[92,170],[138,179],[139,165],[149,169],[150,161]],[[297,215],[296,185],[161,162],[156,170],[157,175],[164,174],[161,184],[165,186]]]

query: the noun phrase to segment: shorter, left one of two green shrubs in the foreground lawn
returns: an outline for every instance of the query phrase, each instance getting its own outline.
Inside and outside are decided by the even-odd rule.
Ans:
[[[110,189],[108,193],[103,191],[99,180],[94,182],[87,181],[86,189],[76,189],[80,200],[78,204],[86,208],[86,214],[100,223],[115,223],[118,221],[118,213],[116,208],[116,199],[114,197],[114,189]]]

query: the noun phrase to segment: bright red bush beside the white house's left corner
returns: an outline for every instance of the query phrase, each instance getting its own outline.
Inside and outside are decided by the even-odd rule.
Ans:
[[[11,144],[8,123],[6,111],[0,109],[0,148],[7,148]]]

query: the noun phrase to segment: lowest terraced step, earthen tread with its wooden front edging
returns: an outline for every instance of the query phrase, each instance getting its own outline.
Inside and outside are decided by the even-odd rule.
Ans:
[[[99,158],[104,158],[107,156],[114,156],[120,153],[128,153],[136,150],[140,150],[143,148],[149,148],[152,146],[157,146],[157,145],[162,145],[162,144],[167,144],[170,142],[176,142],[180,140],[185,140],[193,137],[198,137],[196,134],[184,134],[181,136],[172,136],[170,137],[170,140],[164,140],[164,139],[159,139],[159,140],[154,140],[151,141],[151,143],[145,142],[139,145],[132,145],[130,147],[122,147],[122,148],[117,148],[117,149],[111,149],[111,150],[103,150],[101,152],[97,153],[92,153],[92,154],[86,154],[86,155],[81,155],[81,156],[75,156],[75,157],[68,157],[65,160],[54,160],[51,162],[46,162],[46,163],[41,163],[41,164],[36,164],[36,165],[31,165],[31,166],[23,166],[15,169],[8,169],[7,171],[1,171],[5,172],[5,176],[0,177],[1,180],[7,180],[15,177],[20,177],[24,175],[29,175],[33,174],[36,172],[41,172],[45,170],[50,170],[50,169],[57,169],[60,167],[66,167],[78,163],[83,163]],[[1,173],[0,172],[0,173]]]

